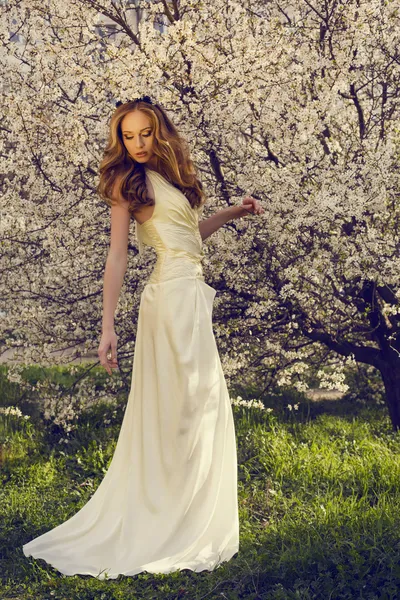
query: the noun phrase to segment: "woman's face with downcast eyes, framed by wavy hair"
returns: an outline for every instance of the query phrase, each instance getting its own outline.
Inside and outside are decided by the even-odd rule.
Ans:
[[[141,110],[129,112],[121,121],[121,131],[129,156],[139,163],[151,161],[154,132],[149,117]]]

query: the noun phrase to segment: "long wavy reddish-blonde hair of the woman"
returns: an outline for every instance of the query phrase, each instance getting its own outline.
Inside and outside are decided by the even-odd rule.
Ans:
[[[165,110],[141,99],[119,104],[111,117],[109,139],[99,167],[100,181],[96,187],[99,196],[110,207],[118,204],[120,197],[127,200],[131,217],[140,206],[155,204],[147,195],[145,164],[129,156],[122,137],[124,116],[141,110],[149,117],[154,134],[152,150],[156,170],[186,196],[192,208],[202,206],[205,203],[203,184],[197,177],[188,144]]]

